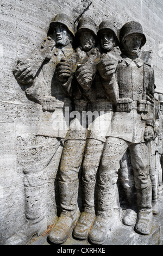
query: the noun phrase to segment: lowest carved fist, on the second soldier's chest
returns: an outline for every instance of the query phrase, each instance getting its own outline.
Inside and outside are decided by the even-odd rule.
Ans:
[[[78,64],[78,69],[76,71],[76,78],[80,86],[83,87],[84,90],[89,90],[92,81],[93,81],[93,75],[95,74],[95,71],[93,71],[93,66],[89,64]]]

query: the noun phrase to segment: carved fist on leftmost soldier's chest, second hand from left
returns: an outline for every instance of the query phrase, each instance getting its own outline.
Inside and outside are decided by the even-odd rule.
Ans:
[[[68,78],[71,75],[70,71],[70,65],[67,62],[65,62],[65,60],[61,60],[61,62],[58,63],[56,66],[56,74],[58,80],[62,83],[67,82]]]

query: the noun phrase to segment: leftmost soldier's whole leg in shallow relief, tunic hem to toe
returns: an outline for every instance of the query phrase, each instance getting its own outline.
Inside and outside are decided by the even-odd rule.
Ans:
[[[28,143],[23,153],[26,154],[23,162],[26,222],[6,241],[7,245],[27,245],[34,234],[41,235],[47,229],[48,171],[55,164],[60,142],[56,138],[36,136]]]

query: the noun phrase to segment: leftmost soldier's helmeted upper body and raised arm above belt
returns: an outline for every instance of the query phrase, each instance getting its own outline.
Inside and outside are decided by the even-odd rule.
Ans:
[[[64,82],[67,82],[67,78],[70,76],[70,64],[68,65],[67,62],[65,67],[64,60],[71,56],[71,64],[73,66],[74,50],[72,48],[72,42],[74,29],[74,23],[70,17],[65,14],[55,16],[49,28],[51,37],[48,36],[45,40],[46,42],[42,45],[41,53],[44,58],[42,58],[41,64],[38,65],[36,60],[31,60],[31,63],[28,63],[28,60],[26,64],[18,61],[18,65],[14,70],[14,75],[18,82],[22,84],[32,84],[32,86],[26,89],[26,94],[37,103],[41,103],[44,111],[54,111],[53,108],[50,109],[50,105],[46,107],[46,104],[43,104],[43,100],[46,101],[46,97],[50,99],[49,96],[53,96],[51,98],[53,101],[55,98],[59,100],[67,98],[68,92],[66,90],[64,92],[66,88]],[[51,44],[49,41],[51,41]],[[56,67],[60,71],[57,64],[60,63],[61,58],[63,58],[62,66],[64,66],[65,73],[60,76],[54,76]],[[29,64],[32,65],[32,67],[30,67]],[[63,77],[65,77],[65,79]],[[62,83],[62,86],[60,86],[60,83]]]

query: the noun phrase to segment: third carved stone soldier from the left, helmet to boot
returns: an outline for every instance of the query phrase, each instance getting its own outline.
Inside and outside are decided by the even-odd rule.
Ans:
[[[96,113],[95,120],[87,129],[86,148],[83,160],[83,198],[84,211],[82,212],[76,227],[73,230],[74,237],[86,240],[93,221],[95,220],[95,187],[96,175],[101,161],[106,132],[111,120],[111,102],[116,101],[116,95],[111,88],[110,74],[116,69],[120,60],[121,51],[118,47],[117,31],[110,21],[104,21],[99,25],[98,39],[101,42],[101,59],[98,62],[94,80],[95,100],[89,103],[89,111]],[[111,62],[113,66],[107,69],[108,76],[104,76],[105,63]],[[102,74],[102,76],[101,76]],[[115,74],[114,74],[115,76]],[[108,80],[109,78],[109,80]],[[82,83],[81,83],[82,84]],[[110,88],[109,88],[110,87]],[[116,92],[115,92],[116,93]],[[114,98],[114,99],[113,99]],[[111,100],[112,99],[112,100]]]

